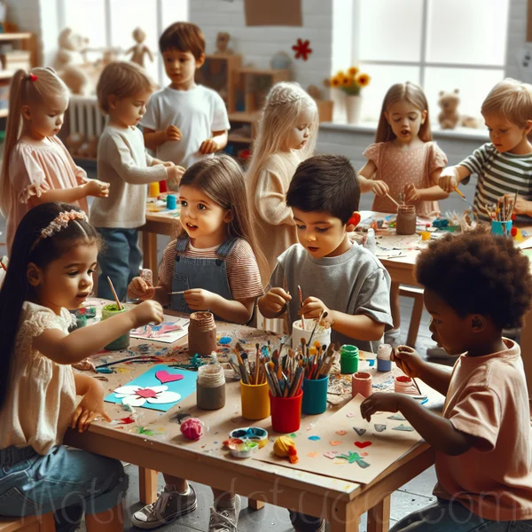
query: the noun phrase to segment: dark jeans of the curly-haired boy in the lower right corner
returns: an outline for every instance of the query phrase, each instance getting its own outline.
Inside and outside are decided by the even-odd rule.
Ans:
[[[389,532],[532,532],[532,520],[485,520],[456,500],[438,498],[396,522]]]

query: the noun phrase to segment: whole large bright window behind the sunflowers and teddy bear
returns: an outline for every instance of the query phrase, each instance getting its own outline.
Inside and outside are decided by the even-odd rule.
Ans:
[[[509,0],[352,1],[353,63],[372,76],[363,120],[379,120],[387,89],[405,81],[423,87],[433,123],[440,90],[459,89],[459,112],[480,115],[489,89],[505,76]]]

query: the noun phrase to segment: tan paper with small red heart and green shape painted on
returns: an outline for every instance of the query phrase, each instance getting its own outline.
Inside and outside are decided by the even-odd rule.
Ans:
[[[310,430],[293,434],[297,464],[276,457],[270,445],[253,459],[361,484],[371,482],[417,445],[421,436],[402,416],[390,412],[377,412],[370,422],[365,421],[360,413],[363,401],[362,395],[356,395]]]

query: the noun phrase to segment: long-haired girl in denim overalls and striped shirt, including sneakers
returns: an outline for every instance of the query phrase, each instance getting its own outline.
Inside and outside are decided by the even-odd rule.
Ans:
[[[159,286],[134,278],[129,297],[154,299],[187,313],[208,309],[225,321],[246,324],[263,294],[257,260],[265,261],[256,245],[239,163],[226,155],[196,162],[182,177],[179,201],[182,231],[164,251]],[[196,494],[186,480],[165,475],[165,481],[159,499],[131,517],[137,528],[155,528],[196,508]],[[213,491],[208,529],[236,530],[239,496]]]

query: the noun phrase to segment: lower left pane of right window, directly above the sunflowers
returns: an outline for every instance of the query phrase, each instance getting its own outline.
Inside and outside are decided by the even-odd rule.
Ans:
[[[379,121],[382,100],[394,83],[419,83],[417,66],[361,65],[360,69],[372,76],[370,85],[361,91],[362,121]]]

